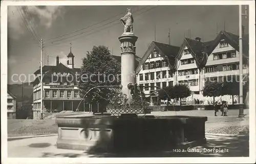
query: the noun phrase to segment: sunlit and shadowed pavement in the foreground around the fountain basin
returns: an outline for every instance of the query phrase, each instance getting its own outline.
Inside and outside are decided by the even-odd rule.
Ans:
[[[207,143],[178,152],[132,152],[123,154],[88,153],[78,150],[57,149],[57,136],[35,137],[8,142],[8,157],[224,157],[248,156],[249,137],[206,135]],[[180,151],[180,152],[179,152]],[[199,152],[198,152],[199,151]]]

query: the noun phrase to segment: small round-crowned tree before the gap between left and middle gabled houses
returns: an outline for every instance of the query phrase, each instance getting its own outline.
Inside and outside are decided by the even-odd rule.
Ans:
[[[169,92],[171,99],[179,99],[181,106],[181,99],[189,97],[191,95],[191,90],[185,84],[175,85]]]

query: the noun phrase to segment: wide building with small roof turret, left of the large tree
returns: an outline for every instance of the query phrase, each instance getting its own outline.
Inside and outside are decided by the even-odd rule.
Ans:
[[[43,112],[76,111],[76,109],[89,111],[92,108],[92,104],[81,101],[77,85],[80,68],[74,67],[74,57],[70,49],[67,55],[67,66],[60,63],[57,56],[56,65],[42,67]],[[121,62],[121,56],[113,55],[113,57]],[[136,66],[139,60],[140,58],[136,56]],[[36,78],[33,81],[33,118],[39,119],[41,113],[40,68],[34,75]]]

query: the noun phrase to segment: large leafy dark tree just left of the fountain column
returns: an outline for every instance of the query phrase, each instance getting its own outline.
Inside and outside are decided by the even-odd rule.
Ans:
[[[80,96],[94,86],[120,85],[121,63],[118,62],[106,46],[93,46],[87,57],[82,59],[81,72],[78,76],[78,88]],[[86,102],[101,103],[106,106],[113,94],[117,93],[115,88],[93,89],[87,95]]]

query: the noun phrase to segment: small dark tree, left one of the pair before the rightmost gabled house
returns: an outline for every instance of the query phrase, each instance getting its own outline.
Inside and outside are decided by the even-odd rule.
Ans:
[[[215,97],[222,95],[222,87],[223,83],[220,82],[208,83],[203,88],[203,96],[214,97],[215,103]]]

